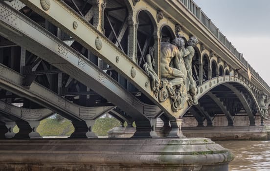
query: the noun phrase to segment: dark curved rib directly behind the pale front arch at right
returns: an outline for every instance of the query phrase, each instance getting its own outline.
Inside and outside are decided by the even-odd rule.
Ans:
[[[229,89],[231,89],[234,94],[237,96],[237,98],[239,99],[239,101],[241,102],[241,104],[243,105],[244,109],[246,110],[247,114],[248,114],[248,118],[249,118],[249,126],[255,126],[255,116],[250,108],[248,104],[247,99],[245,98],[244,94],[241,93],[236,87],[234,87],[233,85],[229,85],[229,84],[224,84],[226,87],[228,87]]]

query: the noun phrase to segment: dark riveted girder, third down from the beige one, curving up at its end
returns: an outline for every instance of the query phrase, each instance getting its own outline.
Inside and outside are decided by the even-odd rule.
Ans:
[[[35,82],[28,89],[22,86],[22,79],[22,75],[0,64],[0,87],[63,114],[68,119],[92,120],[114,108],[78,106]]]

